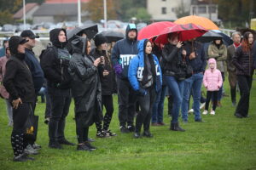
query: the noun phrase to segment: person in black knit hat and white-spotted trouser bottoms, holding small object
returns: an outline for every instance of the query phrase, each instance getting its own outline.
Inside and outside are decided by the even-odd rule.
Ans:
[[[114,75],[111,61],[107,53],[107,38],[102,36],[102,34],[96,34],[94,37],[94,42],[96,48],[93,48],[90,52],[90,55],[94,59],[103,59],[105,61],[104,65],[98,66],[100,81],[102,85],[102,105],[106,108],[106,114],[103,118],[103,127],[102,122],[96,122],[96,137],[103,138],[108,136],[116,136],[116,133],[112,133],[109,130],[109,125],[112,120],[113,115],[113,83]]]

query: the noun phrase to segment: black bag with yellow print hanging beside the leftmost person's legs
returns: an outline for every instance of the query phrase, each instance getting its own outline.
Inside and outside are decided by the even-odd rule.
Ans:
[[[25,138],[29,141],[36,141],[38,134],[38,119],[39,116],[35,116],[32,112],[32,106],[30,105],[29,115],[25,123]]]

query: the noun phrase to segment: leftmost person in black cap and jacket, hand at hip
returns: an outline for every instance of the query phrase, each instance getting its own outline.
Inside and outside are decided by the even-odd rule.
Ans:
[[[32,160],[24,153],[25,124],[35,99],[32,74],[24,61],[26,41],[18,36],[10,38],[9,49],[12,56],[6,64],[3,77],[3,86],[8,91],[9,101],[13,106],[14,128],[11,144],[15,155],[14,161]]]

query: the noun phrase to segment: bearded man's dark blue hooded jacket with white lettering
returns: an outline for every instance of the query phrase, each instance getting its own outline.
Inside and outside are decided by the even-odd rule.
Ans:
[[[128,32],[131,30],[136,30],[136,27],[131,27],[132,24],[128,25],[126,28],[125,39],[119,40],[113,46],[111,60],[113,69],[116,75],[121,79],[127,79],[128,68],[131,59],[135,57],[138,53],[137,51],[137,37],[136,40],[131,41],[128,38]]]

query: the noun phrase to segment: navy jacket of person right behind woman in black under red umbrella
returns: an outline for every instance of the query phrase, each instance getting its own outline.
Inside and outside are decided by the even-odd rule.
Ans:
[[[194,42],[194,49],[192,49],[192,43],[187,42],[187,44],[183,47],[183,49],[186,50],[186,60],[189,65],[192,66],[193,72],[204,72],[207,67],[207,59],[204,47],[200,42]],[[192,53],[192,51],[195,50],[195,59],[189,59],[189,54]]]

